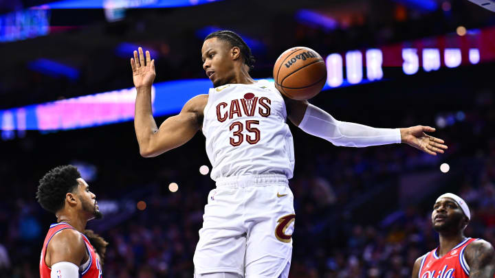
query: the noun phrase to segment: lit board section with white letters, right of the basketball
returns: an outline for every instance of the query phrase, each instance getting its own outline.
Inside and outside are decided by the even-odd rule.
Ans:
[[[441,67],[489,62],[495,60],[494,38],[495,27],[492,27],[470,30],[463,36],[448,34],[381,48],[329,54],[325,61],[327,86],[335,88],[342,84],[397,77],[396,73],[386,76],[384,71],[389,69],[401,68],[403,74],[413,75],[420,70],[437,71]]]

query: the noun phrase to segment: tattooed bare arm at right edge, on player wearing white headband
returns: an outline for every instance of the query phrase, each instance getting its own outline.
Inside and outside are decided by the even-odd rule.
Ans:
[[[470,266],[470,278],[493,278],[495,273],[495,252],[492,244],[476,240],[465,248],[465,259]]]

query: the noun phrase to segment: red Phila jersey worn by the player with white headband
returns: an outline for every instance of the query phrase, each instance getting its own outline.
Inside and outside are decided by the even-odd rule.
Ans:
[[[464,258],[464,251],[474,238],[466,238],[443,257],[437,256],[437,248],[428,252],[419,267],[418,278],[469,278],[470,268]]]

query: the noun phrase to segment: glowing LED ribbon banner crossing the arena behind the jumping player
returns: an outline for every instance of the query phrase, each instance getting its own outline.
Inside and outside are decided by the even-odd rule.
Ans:
[[[375,49],[330,54],[326,58],[328,79],[323,90],[455,68],[495,60],[495,27],[469,30]],[[344,78],[345,72],[345,78]],[[273,82],[273,80],[271,80]],[[208,93],[208,79],[159,82],[153,86],[155,116],[178,113],[195,95]],[[0,111],[3,139],[14,138],[14,130],[70,130],[129,121],[134,117],[135,89],[121,89],[67,100]]]

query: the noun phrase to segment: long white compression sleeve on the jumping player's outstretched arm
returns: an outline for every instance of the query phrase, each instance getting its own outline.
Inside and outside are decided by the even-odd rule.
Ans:
[[[399,128],[372,128],[338,121],[322,109],[308,104],[299,128],[335,146],[368,147],[401,143]]]

